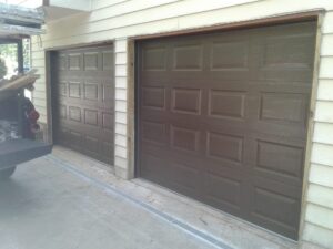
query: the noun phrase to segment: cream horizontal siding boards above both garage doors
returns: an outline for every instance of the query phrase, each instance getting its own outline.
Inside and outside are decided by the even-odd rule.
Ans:
[[[127,4],[138,4],[142,1],[132,0]],[[145,1],[143,1],[145,2]],[[150,1],[150,2],[161,2]],[[164,3],[164,1],[162,1]],[[78,14],[71,18],[71,24],[75,29],[69,29],[68,20],[61,20],[49,24],[48,32],[43,35],[44,46],[60,46],[73,43],[87,43],[105,40],[109,38],[124,38],[129,35],[157,33],[194,27],[212,25],[224,22],[235,22],[249,19],[258,19],[268,15],[283,14],[286,12],[317,9],[325,7],[333,9],[333,1],[221,1],[210,0],[209,4],[200,0],[170,1],[169,4],[147,8],[141,11],[129,12],[123,15],[110,17],[99,21],[91,21],[92,14]],[[239,6],[228,7],[229,4]],[[266,3],[269,2],[269,3]],[[281,3],[280,3],[281,2]],[[281,6],[284,2],[284,8]],[[213,4],[214,3],[214,4]],[[243,4],[241,4],[243,3]],[[268,8],[265,8],[268,6]],[[138,8],[139,8],[138,7]],[[100,10],[98,10],[100,11]],[[245,14],[240,14],[245,13]],[[200,21],[199,21],[200,20]]]

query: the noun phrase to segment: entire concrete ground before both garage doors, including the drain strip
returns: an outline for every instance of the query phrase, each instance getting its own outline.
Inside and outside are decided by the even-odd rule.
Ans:
[[[0,183],[0,249],[314,249],[56,147]]]

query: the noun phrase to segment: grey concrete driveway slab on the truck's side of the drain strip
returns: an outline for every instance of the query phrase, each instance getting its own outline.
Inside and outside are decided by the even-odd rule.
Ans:
[[[216,248],[47,156],[0,183],[0,249]]]

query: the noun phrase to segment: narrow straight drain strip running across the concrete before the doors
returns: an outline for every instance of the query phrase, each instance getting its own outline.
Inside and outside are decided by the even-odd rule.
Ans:
[[[159,218],[170,222],[171,225],[173,225],[174,227],[178,227],[180,229],[182,229],[183,231],[185,231],[186,234],[190,234],[191,236],[194,236],[195,238],[203,240],[205,242],[209,242],[210,245],[216,247],[216,248],[222,248],[222,249],[233,249],[232,247],[225,245],[224,242],[222,242],[221,240],[219,240],[218,238],[214,238],[211,235],[208,235],[203,231],[200,231],[198,229],[195,229],[194,227],[191,227],[188,224],[184,224],[183,221],[165,214],[162,212],[160,210],[158,210],[157,208],[139,200],[135,199],[133,197],[131,197],[128,194],[124,194],[123,191],[117,189],[115,187],[109,185],[109,184],[104,184],[98,179],[94,179],[90,176],[88,176],[87,174],[78,170],[77,168],[74,168],[73,166],[71,166],[70,164],[68,164],[65,160],[60,159],[57,156],[53,155],[49,155],[46,157],[48,160],[56,163],[57,165],[61,166],[62,168],[64,168],[65,170],[72,173],[73,175],[80,177],[81,179],[89,181],[90,184],[102,188],[103,190],[105,190],[107,193],[111,193],[111,194],[115,194],[120,197],[125,198],[127,200],[131,201],[132,204],[135,204],[137,206],[143,208],[144,210],[151,212],[152,215],[158,216]]]

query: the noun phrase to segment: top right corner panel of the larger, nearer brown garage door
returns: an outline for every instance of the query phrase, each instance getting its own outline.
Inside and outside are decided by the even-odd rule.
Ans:
[[[290,25],[265,31],[259,35],[262,38],[259,44],[263,46],[259,79],[296,82],[312,79],[315,27]]]

